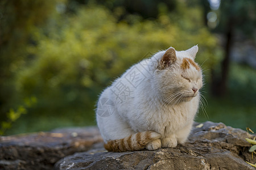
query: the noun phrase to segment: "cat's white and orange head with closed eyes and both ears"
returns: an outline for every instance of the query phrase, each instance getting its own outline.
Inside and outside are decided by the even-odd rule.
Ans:
[[[164,101],[190,101],[203,86],[203,75],[195,63],[198,46],[184,51],[169,48],[156,54],[158,65],[154,71],[154,84]],[[172,100],[172,101],[171,101]]]

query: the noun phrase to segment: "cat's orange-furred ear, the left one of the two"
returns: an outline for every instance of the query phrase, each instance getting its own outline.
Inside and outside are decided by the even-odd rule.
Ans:
[[[161,58],[160,64],[162,67],[168,67],[171,64],[175,63],[177,60],[176,52],[174,48],[168,48],[166,50],[166,53],[163,54],[163,57]]]

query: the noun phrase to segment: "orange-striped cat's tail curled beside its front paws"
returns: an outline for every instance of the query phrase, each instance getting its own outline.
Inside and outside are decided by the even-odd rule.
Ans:
[[[104,147],[112,152],[138,151],[143,150],[148,142],[160,137],[161,135],[155,131],[142,131],[126,138],[108,141]]]

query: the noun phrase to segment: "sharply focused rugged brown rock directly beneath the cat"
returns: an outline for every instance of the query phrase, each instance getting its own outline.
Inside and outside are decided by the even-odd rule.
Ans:
[[[255,169],[245,162],[256,162],[246,131],[209,121],[193,127],[188,142],[175,148],[115,153],[101,145],[59,160],[55,169]]]

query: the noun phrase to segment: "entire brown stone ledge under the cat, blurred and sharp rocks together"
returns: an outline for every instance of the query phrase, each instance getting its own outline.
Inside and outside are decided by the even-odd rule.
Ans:
[[[1,137],[0,169],[255,169],[246,131],[197,125],[185,145],[156,151],[106,152],[96,127]]]

